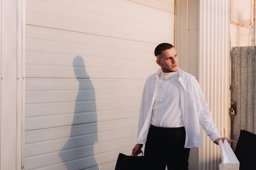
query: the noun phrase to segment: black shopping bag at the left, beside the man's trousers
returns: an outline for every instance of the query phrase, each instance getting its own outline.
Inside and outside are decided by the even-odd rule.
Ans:
[[[145,156],[128,156],[119,153],[115,170],[145,170]]]

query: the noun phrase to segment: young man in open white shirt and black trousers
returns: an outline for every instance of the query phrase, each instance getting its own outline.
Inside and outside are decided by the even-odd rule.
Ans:
[[[161,68],[146,79],[132,155],[146,144],[147,169],[188,170],[190,148],[201,146],[200,125],[215,144],[225,137],[218,134],[195,77],[178,67],[173,45],[159,44],[155,56]]]

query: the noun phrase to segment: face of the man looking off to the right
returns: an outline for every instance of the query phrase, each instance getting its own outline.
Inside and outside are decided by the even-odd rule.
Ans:
[[[178,70],[178,56],[174,48],[162,51],[157,55],[157,64],[161,67],[162,72],[169,73]]]

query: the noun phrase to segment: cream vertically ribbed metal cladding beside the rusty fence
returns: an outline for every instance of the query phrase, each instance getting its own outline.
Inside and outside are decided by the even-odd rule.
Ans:
[[[229,0],[200,0],[198,78],[222,137],[229,137]],[[219,148],[206,133],[200,170],[218,170]]]

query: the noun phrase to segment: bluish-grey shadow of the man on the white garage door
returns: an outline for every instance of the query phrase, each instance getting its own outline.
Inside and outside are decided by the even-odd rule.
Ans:
[[[73,60],[74,74],[79,81],[70,138],[59,156],[67,170],[81,170],[94,167],[99,170],[94,157],[94,143],[98,141],[97,112],[94,86],[85,71],[83,57]]]

